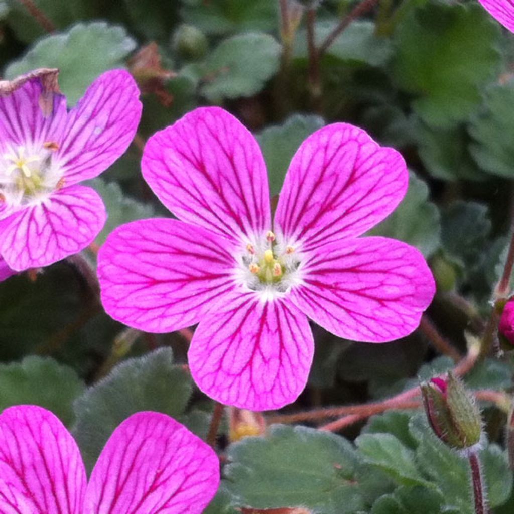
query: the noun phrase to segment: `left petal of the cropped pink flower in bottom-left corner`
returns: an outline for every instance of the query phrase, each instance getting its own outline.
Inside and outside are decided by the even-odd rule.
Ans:
[[[82,514],[85,490],[80,451],[56,416],[35,406],[0,415],[0,505],[12,509],[2,512]],[[26,505],[17,510],[22,498]]]

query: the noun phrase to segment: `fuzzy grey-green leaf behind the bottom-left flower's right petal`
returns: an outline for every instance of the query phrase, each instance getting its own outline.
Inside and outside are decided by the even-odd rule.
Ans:
[[[91,469],[114,429],[139,411],[155,411],[180,420],[191,395],[191,377],[173,365],[169,348],[129,359],[75,402],[75,438]]]

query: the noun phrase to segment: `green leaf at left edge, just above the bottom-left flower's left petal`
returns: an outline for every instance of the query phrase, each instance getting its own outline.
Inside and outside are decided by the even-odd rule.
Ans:
[[[0,365],[0,411],[12,405],[39,405],[70,426],[73,401],[83,390],[84,383],[72,368],[50,358],[30,356]]]

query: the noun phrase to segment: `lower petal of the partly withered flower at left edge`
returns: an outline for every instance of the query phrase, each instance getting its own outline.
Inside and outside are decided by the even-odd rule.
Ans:
[[[16,271],[46,266],[93,242],[105,219],[102,199],[93,189],[63,188],[0,222],[0,255]]]

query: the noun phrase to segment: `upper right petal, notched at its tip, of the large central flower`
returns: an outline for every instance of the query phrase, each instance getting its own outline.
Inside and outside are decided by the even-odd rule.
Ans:
[[[308,137],[292,158],[275,230],[304,249],[363,234],[400,203],[409,175],[392,148],[360,128],[334,123]]]

